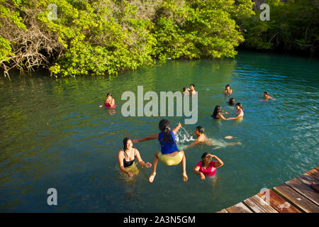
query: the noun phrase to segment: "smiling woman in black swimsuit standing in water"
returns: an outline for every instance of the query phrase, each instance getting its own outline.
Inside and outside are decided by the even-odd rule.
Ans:
[[[142,167],[150,168],[152,166],[150,162],[145,163],[142,160],[140,152],[133,147],[133,141],[130,138],[124,138],[123,145],[123,149],[118,152],[118,165],[122,172],[127,174],[128,177],[133,177],[133,173],[138,173],[138,169],[135,165],[135,157]]]

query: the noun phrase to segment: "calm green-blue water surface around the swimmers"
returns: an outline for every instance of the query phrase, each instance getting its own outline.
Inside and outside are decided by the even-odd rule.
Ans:
[[[169,61],[111,79],[52,79],[43,72],[12,76],[12,82],[1,77],[0,211],[215,212],[237,204],[319,165],[318,72],[318,60],[240,52],[235,59]],[[159,94],[193,83],[198,122],[184,129],[204,126],[215,145],[185,150],[188,182],[181,165],[161,162],[152,184],[151,170],[140,166],[133,181],[123,179],[117,165],[123,138],[157,133],[161,118],[123,117],[121,94],[137,92],[138,85]],[[217,104],[233,111],[221,94],[225,84],[243,105],[242,121],[210,117]],[[264,91],[276,101],[259,101]],[[115,111],[99,108],[107,92],[116,99]],[[184,117],[168,119],[184,123]],[[227,145],[238,141],[242,145]],[[159,150],[157,140],[135,147],[145,162]],[[203,152],[225,162],[216,184],[192,172]],[[52,187],[58,206],[47,205]]]

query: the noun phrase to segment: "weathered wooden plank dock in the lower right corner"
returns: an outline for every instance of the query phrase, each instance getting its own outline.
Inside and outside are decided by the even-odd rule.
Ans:
[[[319,166],[273,189],[265,189],[217,213],[319,213]]]

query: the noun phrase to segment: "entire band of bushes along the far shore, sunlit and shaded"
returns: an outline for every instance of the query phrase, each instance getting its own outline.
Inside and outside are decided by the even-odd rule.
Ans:
[[[242,48],[318,57],[318,11],[318,0],[0,0],[0,70],[112,75]]]

